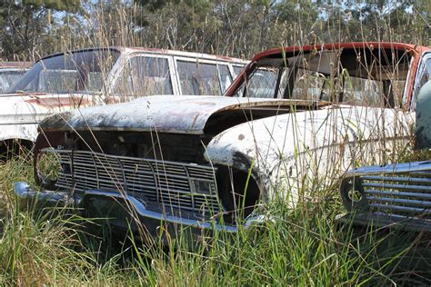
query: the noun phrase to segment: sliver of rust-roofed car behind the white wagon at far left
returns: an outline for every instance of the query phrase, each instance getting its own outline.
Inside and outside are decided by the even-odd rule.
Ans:
[[[14,85],[30,66],[30,62],[0,62],[0,94]]]

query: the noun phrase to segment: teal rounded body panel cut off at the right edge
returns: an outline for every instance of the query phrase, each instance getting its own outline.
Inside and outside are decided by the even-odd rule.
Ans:
[[[422,86],[416,102],[415,150],[431,149],[431,81]]]

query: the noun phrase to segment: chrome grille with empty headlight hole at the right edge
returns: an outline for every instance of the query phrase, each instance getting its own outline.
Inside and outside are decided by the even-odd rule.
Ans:
[[[349,183],[341,191],[345,198],[352,201],[347,194],[352,190],[361,193],[361,200],[352,201],[354,208],[431,220],[431,162],[364,167],[346,180]]]

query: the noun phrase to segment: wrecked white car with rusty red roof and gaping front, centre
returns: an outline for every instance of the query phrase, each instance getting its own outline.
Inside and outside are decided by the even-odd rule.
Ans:
[[[428,51],[280,48],[257,54],[226,97],[156,95],[55,114],[35,143],[42,191],[15,183],[15,193],[119,228],[135,221],[153,236],[162,225],[236,232],[264,220],[261,203],[295,208],[355,164],[404,148]]]

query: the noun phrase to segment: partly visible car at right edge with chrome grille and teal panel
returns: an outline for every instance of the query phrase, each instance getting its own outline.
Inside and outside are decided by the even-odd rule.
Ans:
[[[424,74],[428,81],[417,97],[416,151],[431,148],[431,57]],[[374,228],[431,232],[431,162],[366,166],[346,173],[340,193],[348,213],[341,223]]]

